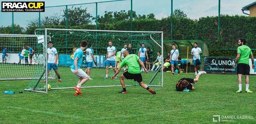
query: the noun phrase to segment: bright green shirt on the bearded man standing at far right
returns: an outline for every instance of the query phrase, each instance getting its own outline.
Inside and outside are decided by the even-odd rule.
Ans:
[[[249,57],[252,55],[252,50],[247,45],[241,45],[237,48],[237,53],[240,53],[238,63],[244,63],[249,65]]]

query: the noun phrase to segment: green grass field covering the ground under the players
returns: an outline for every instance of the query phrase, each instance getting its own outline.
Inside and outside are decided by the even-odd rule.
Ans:
[[[69,68],[59,70],[63,86],[76,86],[77,79]],[[113,74],[112,70],[109,72]],[[177,92],[175,85],[180,78],[195,76],[169,74],[164,72],[164,87],[150,87],[156,95],[140,86],[126,87],[127,94],[117,93],[122,87],[84,88],[80,96],[74,96],[74,89],[50,90],[48,94],[18,93],[31,80],[0,81],[0,123],[212,123],[213,115],[252,115],[254,119],[220,121],[256,122],[256,76],[250,76],[249,89],[254,93],[244,93],[244,78],[243,93],[236,93],[237,76],[231,74],[201,75],[195,91]],[[152,76],[153,72],[143,74],[143,80],[148,82]],[[92,69],[91,77],[94,80],[84,86],[104,82],[104,69]],[[50,80],[49,84],[55,85],[56,81]],[[113,84],[120,83],[113,80]],[[16,93],[3,94],[10,90]]]

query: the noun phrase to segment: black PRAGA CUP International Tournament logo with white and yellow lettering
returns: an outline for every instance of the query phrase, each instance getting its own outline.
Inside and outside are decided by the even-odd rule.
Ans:
[[[43,2],[2,2],[2,12],[44,12]]]

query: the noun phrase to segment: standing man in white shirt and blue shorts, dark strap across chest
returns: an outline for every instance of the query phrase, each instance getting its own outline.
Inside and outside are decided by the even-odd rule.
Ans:
[[[171,50],[171,56],[170,56],[170,61],[171,61],[171,65],[172,65],[172,73],[171,75],[174,75],[174,65],[176,65],[177,69],[179,70],[178,71],[178,75],[180,75],[180,68],[179,68],[179,61],[178,61],[178,58],[179,58],[179,50],[176,49],[176,46],[173,44],[172,45],[172,50]]]

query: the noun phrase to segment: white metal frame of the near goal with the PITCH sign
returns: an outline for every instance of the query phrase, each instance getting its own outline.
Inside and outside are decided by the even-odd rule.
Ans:
[[[38,34],[38,32],[44,32],[44,34]],[[50,32],[50,33],[49,33]],[[81,29],[51,29],[51,28],[45,28],[45,29],[36,29],[35,30],[35,35],[36,36],[39,36],[39,35],[44,35],[44,55],[47,54],[47,47],[45,46],[48,46],[48,41],[49,41],[49,37],[52,38],[52,41],[54,40],[54,36],[53,34],[55,32],[59,32],[59,33],[62,33],[60,36],[66,36],[67,37],[70,37],[68,34],[74,36],[76,34],[76,32],[92,32],[92,33],[95,33],[96,35],[96,40],[98,40],[97,38],[100,37],[100,33],[103,33],[103,32],[106,32],[106,33],[109,33],[109,35],[111,33],[115,34],[113,35],[113,37],[118,37],[118,33],[122,34],[124,33],[124,35],[131,35],[131,36],[127,36],[127,37],[136,37],[136,36],[140,36],[140,37],[148,37],[149,39],[152,40],[152,44],[155,44],[156,46],[159,47],[159,50],[161,49],[161,55],[162,57],[164,56],[164,51],[163,51],[163,37],[164,37],[164,34],[163,34],[163,31],[109,31],[109,30],[81,30]],[[66,34],[65,34],[66,33]],[[73,34],[72,34],[73,33]],[[117,35],[116,35],[117,34]],[[136,35],[135,35],[136,34]],[[143,36],[144,34],[147,34],[147,36]],[[158,34],[159,35],[159,40],[157,41],[156,39],[153,38],[153,36],[151,37],[151,34]],[[51,36],[52,35],[52,36]],[[104,34],[103,34],[104,35]],[[84,36],[84,35],[83,35]],[[84,36],[84,37],[89,37],[91,36],[88,35],[88,36]],[[160,39],[161,38],[161,39]],[[119,38],[118,38],[119,39]],[[120,39],[119,39],[120,40]],[[136,39],[137,40],[137,39]],[[120,40],[121,41],[121,40]],[[135,40],[134,40],[135,41]],[[78,41],[77,41],[78,42]],[[81,40],[79,41],[81,42]],[[54,43],[53,43],[54,44]],[[121,44],[121,42],[120,42]],[[159,51],[160,52],[160,51]],[[155,58],[154,58],[155,59]],[[45,57],[44,59],[44,63],[47,63],[47,57]],[[163,87],[163,64],[164,64],[164,59],[162,59],[162,64],[160,66],[160,68],[158,68],[158,70],[156,71],[156,73],[154,74],[154,76],[152,77],[152,79],[149,81],[148,86],[159,86],[159,87]],[[154,80],[154,78],[156,77],[156,75],[158,74],[158,72],[160,72],[160,69],[162,70],[161,71],[161,79],[159,78],[159,80],[161,80],[161,83],[159,83],[159,85],[151,85],[152,81]],[[44,66],[44,70],[47,70],[47,64],[45,64]],[[152,73],[153,74],[153,73]],[[159,74],[159,75],[160,75]],[[45,75],[47,75],[47,71],[45,71]],[[160,76],[159,76],[160,77]],[[42,77],[41,77],[42,78]],[[40,78],[40,79],[41,79]],[[39,79],[39,80],[40,80]],[[95,79],[97,80],[97,79]],[[38,81],[39,82],[39,81]],[[48,83],[49,80],[48,80],[48,77],[46,76],[45,77],[45,86],[48,86]],[[38,83],[37,83],[38,84]],[[37,85],[36,84],[36,85]],[[81,88],[96,88],[96,87],[113,87],[113,86],[121,86],[121,85],[107,85],[107,86],[82,86]],[[126,85],[126,86],[135,86],[135,85]],[[74,88],[74,87],[52,87],[51,89],[71,89],[71,88]],[[40,93],[48,93],[48,89],[47,88],[27,88],[25,89],[26,91],[32,91],[32,92],[40,92]]]

